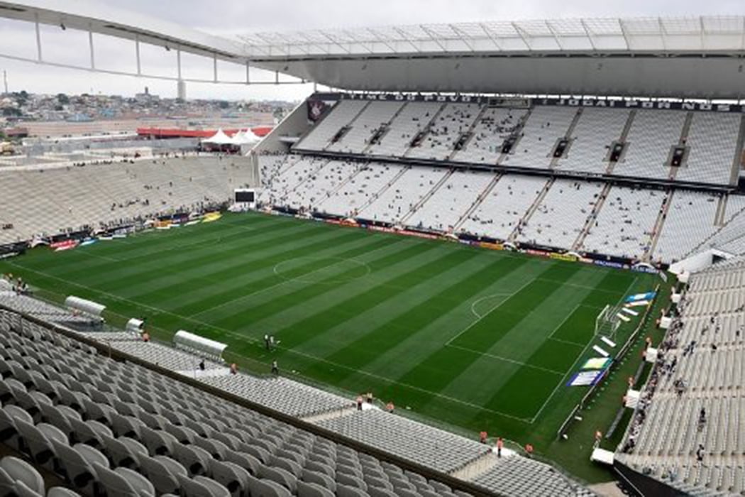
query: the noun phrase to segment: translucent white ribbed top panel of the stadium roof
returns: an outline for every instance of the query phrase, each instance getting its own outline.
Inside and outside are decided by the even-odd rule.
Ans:
[[[743,51],[745,16],[552,19],[241,36],[248,57],[583,51]]]

